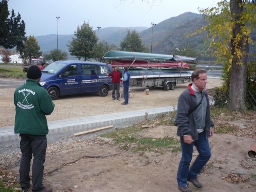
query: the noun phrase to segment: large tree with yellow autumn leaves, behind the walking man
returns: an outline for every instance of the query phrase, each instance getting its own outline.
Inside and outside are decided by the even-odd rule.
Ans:
[[[245,109],[246,71],[250,33],[256,26],[255,0],[221,0],[216,7],[200,10],[209,21],[196,33],[207,32],[208,51],[230,73],[230,109]],[[225,79],[229,79],[228,76]]]

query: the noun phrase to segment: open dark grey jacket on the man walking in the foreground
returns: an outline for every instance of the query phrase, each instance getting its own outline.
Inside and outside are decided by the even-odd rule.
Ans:
[[[191,135],[193,140],[198,140],[198,131],[196,128],[196,110],[197,106],[196,96],[194,90],[192,90],[192,83],[189,84],[189,88],[181,93],[178,99],[177,106],[177,136],[182,137],[183,135]],[[214,124],[210,117],[210,105],[209,98],[206,91],[203,92],[203,95],[207,99],[207,111],[206,111],[206,126],[205,132],[206,137],[209,137],[210,127],[213,127]],[[193,111],[194,110],[194,111]],[[190,113],[193,111],[192,113]]]

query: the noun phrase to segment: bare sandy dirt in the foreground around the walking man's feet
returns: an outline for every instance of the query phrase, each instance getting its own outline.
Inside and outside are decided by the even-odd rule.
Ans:
[[[145,129],[141,137],[175,137],[176,127]],[[209,139],[212,157],[198,176],[198,192],[255,192],[255,160],[247,158],[252,139],[215,134]],[[49,152],[50,151],[50,152]],[[197,151],[194,151],[192,161]],[[56,192],[178,192],[177,167],[181,152],[131,152],[99,139],[49,144],[44,184]],[[9,171],[18,172],[19,167]],[[236,173],[233,174],[232,173]],[[18,175],[17,175],[18,176]],[[252,177],[254,176],[254,177]],[[237,182],[237,183],[236,183]]]

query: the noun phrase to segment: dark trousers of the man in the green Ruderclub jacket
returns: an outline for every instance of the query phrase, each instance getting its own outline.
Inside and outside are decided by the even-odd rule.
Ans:
[[[44,175],[47,137],[46,135],[20,134],[20,138],[20,151],[22,153],[20,161],[20,186],[22,189],[29,188],[30,162],[33,155],[32,191],[38,191],[44,187],[42,185],[42,181]]]

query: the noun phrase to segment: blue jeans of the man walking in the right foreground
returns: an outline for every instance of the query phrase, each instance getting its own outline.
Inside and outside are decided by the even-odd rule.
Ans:
[[[210,159],[211,151],[209,148],[209,142],[205,137],[205,131],[199,133],[198,140],[194,141],[192,144],[184,143],[183,137],[180,137],[180,143],[182,154],[177,172],[177,182],[179,186],[186,186],[187,178],[197,179],[197,175],[201,172],[201,169],[203,169],[207,161]],[[199,155],[189,169],[194,145],[196,146]]]

